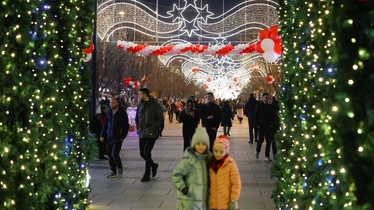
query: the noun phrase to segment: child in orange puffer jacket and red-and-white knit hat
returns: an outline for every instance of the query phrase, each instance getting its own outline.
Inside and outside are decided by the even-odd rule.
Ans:
[[[218,136],[209,161],[209,209],[238,209],[240,189],[239,170],[229,155],[230,142],[224,135]]]

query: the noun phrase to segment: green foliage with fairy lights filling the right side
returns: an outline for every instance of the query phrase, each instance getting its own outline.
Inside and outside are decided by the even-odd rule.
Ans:
[[[280,209],[373,209],[374,3],[280,1]]]

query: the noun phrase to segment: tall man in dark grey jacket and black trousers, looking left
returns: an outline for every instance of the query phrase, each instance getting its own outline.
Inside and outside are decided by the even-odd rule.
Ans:
[[[139,90],[140,104],[138,105],[135,124],[139,136],[140,156],[145,160],[145,173],[141,182],[148,182],[156,176],[159,165],[151,158],[151,151],[163,121],[160,105],[149,95],[147,88]],[[152,172],[152,173],[151,173]]]

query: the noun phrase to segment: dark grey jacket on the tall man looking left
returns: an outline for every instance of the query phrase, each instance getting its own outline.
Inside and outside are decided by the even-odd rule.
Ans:
[[[152,96],[149,96],[149,101],[139,103],[135,117],[139,138],[157,138],[163,121],[163,111]]]

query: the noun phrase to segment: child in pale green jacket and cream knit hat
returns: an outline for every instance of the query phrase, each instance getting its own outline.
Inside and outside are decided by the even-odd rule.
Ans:
[[[209,175],[207,161],[209,136],[204,127],[197,128],[191,146],[171,177],[177,188],[177,210],[208,210]]]

